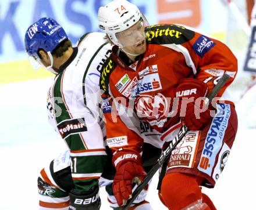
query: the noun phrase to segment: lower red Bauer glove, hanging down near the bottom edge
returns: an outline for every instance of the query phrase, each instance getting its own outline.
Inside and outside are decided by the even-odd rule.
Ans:
[[[113,155],[113,165],[116,167],[113,193],[118,205],[122,206],[131,198],[132,184],[140,184],[146,173],[141,165],[140,154],[132,151],[120,151]]]

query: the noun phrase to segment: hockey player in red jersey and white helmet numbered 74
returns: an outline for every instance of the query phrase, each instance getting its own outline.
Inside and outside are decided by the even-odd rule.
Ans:
[[[119,205],[133,182],[145,178],[141,166],[143,118],[170,142],[182,124],[190,132],[172,151],[159,196],[169,209],[216,209],[201,187],[214,187],[237,132],[237,115],[226,88],[237,73],[237,59],[222,42],[175,24],[148,27],[136,5],[115,0],[99,8],[99,28],[115,44],[101,70],[106,137],[116,175]],[[223,74],[222,101],[201,104]],[[182,103],[180,106],[180,102]],[[217,110],[217,111],[216,111]]]

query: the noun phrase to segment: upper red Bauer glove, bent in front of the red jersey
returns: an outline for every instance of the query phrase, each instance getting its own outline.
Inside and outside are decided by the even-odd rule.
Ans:
[[[176,97],[180,98],[181,104],[181,107],[179,106],[180,117],[182,117],[183,124],[191,131],[200,130],[211,118],[211,110],[205,106],[203,101],[207,93],[207,84],[193,78],[182,79],[176,88]]]

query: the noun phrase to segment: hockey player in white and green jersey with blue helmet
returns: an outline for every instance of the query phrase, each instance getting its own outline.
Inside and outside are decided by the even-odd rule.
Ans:
[[[65,31],[54,19],[42,18],[26,31],[25,46],[30,60],[56,74],[47,95],[49,121],[69,149],[40,172],[41,209],[99,209],[99,186],[111,183],[115,173],[112,158],[106,153],[105,126],[98,106],[99,70],[111,53],[104,35],[87,33],[72,48]],[[151,131],[149,125],[141,122],[141,133]],[[155,138],[158,133],[153,135]],[[151,153],[150,157],[155,153],[155,160],[161,153],[150,144],[145,144],[145,150]],[[147,171],[150,164],[144,162]],[[111,185],[106,190],[111,207],[118,207]],[[144,201],[146,193],[142,194],[136,209],[151,209]]]

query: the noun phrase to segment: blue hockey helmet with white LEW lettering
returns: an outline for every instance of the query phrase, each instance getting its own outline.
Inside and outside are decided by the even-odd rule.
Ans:
[[[67,39],[66,32],[56,20],[49,17],[42,17],[27,29],[25,34],[25,48],[29,57],[37,61],[40,64],[39,66],[43,66],[38,55],[38,50],[43,49],[51,56],[54,49],[65,39]]]

